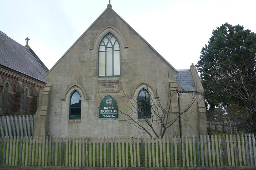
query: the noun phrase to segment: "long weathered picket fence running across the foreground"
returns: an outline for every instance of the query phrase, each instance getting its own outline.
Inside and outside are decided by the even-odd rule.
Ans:
[[[163,138],[1,137],[0,165],[255,166],[254,135]]]

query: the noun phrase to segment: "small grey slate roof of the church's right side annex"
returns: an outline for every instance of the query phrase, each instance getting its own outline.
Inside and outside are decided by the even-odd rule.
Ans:
[[[191,71],[188,70],[177,70],[179,73],[176,77],[176,81],[180,83],[180,87],[184,91],[196,91],[194,79]]]

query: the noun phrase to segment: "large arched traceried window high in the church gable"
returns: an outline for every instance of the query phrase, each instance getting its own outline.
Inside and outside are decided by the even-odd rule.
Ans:
[[[99,77],[120,77],[120,45],[111,33],[100,41]]]

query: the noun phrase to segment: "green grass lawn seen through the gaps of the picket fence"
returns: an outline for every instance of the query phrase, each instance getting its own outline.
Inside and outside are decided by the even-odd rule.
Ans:
[[[212,131],[213,132],[213,136],[215,137],[215,135],[217,135],[218,137],[218,142],[219,142],[219,135],[221,136],[221,144],[220,144],[220,146],[219,146],[219,144],[218,144],[218,149],[220,149],[221,148],[221,153],[222,153],[222,161],[223,161],[223,165],[225,165],[225,160],[224,160],[224,156],[225,156],[225,153],[227,153],[227,146],[226,146],[226,144],[225,144],[225,149],[224,149],[224,144],[223,144],[223,135],[224,135],[224,137],[225,137],[225,140],[226,140],[226,135],[228,135],[228,137],[229,137],[229,135],[230,134],[228,134],[228,133],[223,133],[223,132],[217,132],[217,131]],[[195,154],[195,156],[196,156],[196,164],[198,164],[198,159],[200,160],[200,164],[202,165],[202,159],[204,160],[204,165],[206,164],[206,162],[208,163],[208,165],[210,164],[210,160],[209,160],[209,151],[208,151],[208,144],[204,144],[204,139],[203,139],[203,144],[201,144],[200,143],[200,137],[198,138],[199,139],[199,144],[197,144],[196,143],[196,145],[195,145],[195,151],[194,151],[194,147],[192,146],[192,161],[193,161],[193,164],[194,164],[194,152],[196,153]],[[184,140],[184,138],[183,138],[183,140]],[[236,139],[237,140],[237,139]],[[240,136],[240,140],[241,140],[241,136]],[[245,139],[244,139],[245,140]],[[177,140],[178,141],[178,140]],[[195,142],[197,141],[197,137],[195,138]],[[210,137],[210,141],[211,141],[211,137]],[[230,141],[230,140],[229,140]],[[6,161],[4,161],[3,162],[3,155],[4,154],[6,154],[6,152],[7,152],[7,146],[6,147],[3,147],[4,145],[3,145],[3,142],[4,141],[2,141],[2,143],[0,142],[0,147],[1,147],[1,149],[0,149],[0,151],[2,151],[2,153],[0,153],[0,165],[2,164],[2,165],[4,165],[5,164],[5,162]],[[63,142],[63,141],[62,141]],[[90,140],[90,142],[92,142],[91,140]],[[193,141],[192,141],[193,142]],[[73,142],[72,142],[72,144],[73,144]],[[93,149],[92,149],[92,144],[90,145],[91,146],[91,149],[89,149],[90,147],[89,147],[89,143],[86,141],[85,142],[85,144],[86,144],[86,149],[87,149],[87,152],[84,152],[84,164],[85,165],[87,165],[87,166],[92,166],[92,161],[93,161],[93,158],[94,158],[94,160],[95,160],[95,164],[97,164],[97,162],[98,162],[98,164],[100,164],[100,159],[99,159],[99,157],[97,158],[97,148],[96,148],[96,145],[95,145],[95,148],[94,148],[94,153],[95,153],[95,155],[94,155],[94,157],[93,157]],[[105,151],[105,154],[106,154],[106,161],[105,161],[105,164],[107,164],[107,161],[108,161],[108,154],[109,154],[109,164],[111,165],[111,158],[113,158],[113,161],[114,161],[114,166],[119,166],[119,160],[121,160],[121,164],[122,164],[122,166],[124,166],[123,165],[123,160],[124,160],[124,164],[125,164],[125,166],[131,166],[131,150],[130,150],[130,144],[129,145],[127,145],[128,143],[125,143],[124,144],[124,146],[122,145],[122,144],[119,144],[121,147],[119,148],[119,146],[117,145],[117,148],[115,149],[115,147],[113,146],[113,145],[111,145],[111,144],[109,144],[109,145],[106,145],[106,143],[105,143],[105,148],[106,148],[106,151]],[[34,145],[34,144],[33,144]],[[104,165],[104,159],[103,159],[103,155],[104,155],[104,151],[103,151],[103,146],[104,146],[104,144],[100,144],[101,145],[101,147],[99,147],[98,148],[98,155],[100,156],[100,151],[102,152],[102,160],[101,160],[101,165]],[[193,145],[193,143],[192,143],[192,145]],[[211,150],[211,154],[212,154],[212,142],[210,142],[210,150]],[[214,140],[214,145],[215,145],[215,140]],[[23,146],[24,146],[24,148],[23,148]],[[205,155],[203,155],[203,158],[202,158],[202,155],[201,155],[201,146],[204,148],[204,150],[205,150],[205,148],[207,147],[207,151],[206,151],[206,153],[207,153],[207,155],[208,155],[208,158],[205,158]],[[237,143],[236,144],[234,144],[234,147],[236,147],[236,153],[237,153]],[[16,145],[15,146],[13,146],[14,148],[16,147]],[[22,149],[20,148],[20,147],[22,147]],[[20,144],[18,145],[18,155],[21,155],[21,152],[23,152],[23,150],[26,152],[26,148],[27,147],[27,145],[21,145],[20,146]],[[46,149],[46,145],[45,145],[45,147],[44,147],[44,152],[46,153],[46,152],[48,152],[48,153],[50,153],[50,155],[48,154],[48,158],[47,158],[47,160],[49,160],[49,157],[51,157],[50,158],[50,161],[48,162],[48,164],[47,165],[49,165],[49,166],[54,166],[55,165],[55,159],[57,158],[57,165],[58,166],[62,166],[62,165],[65,165],[66,164],[66,157],[68,158],[67,159],[67,163],[68,163],[68,165],[70,164],[70,165],[72,165],[73,164],[73,162],[72,162],[72,159],[73,159],[73,155],[74,155],[74,157],[76,157],[76,154],[78,154],[78,151],[80,150],[80,147],[81,147],[81,145],[80,144],[75,144],[75,147],[73,148],[73,146],[71,145],[71,147],[69,148],[68,147],[68,154],[66,155],[66,146],[64,145],[64,143],[61,143],[61,144],[58,144],[57,145],[57,147],[56,147],[56,145],[55,144],[52,144],[51,145],[51,147],[49,147],[49,145],[48,145],[48,147],[47,147],[47,149]],[[113,147],[113,148],[112,148]],[[134,144],[132,144],[132,152],[134,152],[134,147],[135,147],[135,145]],[[143,165],[145,165],[145,163],[146,163],[146,160],[145,160],[145,149],[147,150],[147,163],[149,162],[149,158],[148,158],[148,147],[150,147],[150,158],[151,158],[151,166],[153,166],[153,154],[155,154],[155,158],[154,158],[154,160],[155,160],[155,165],[156,165],[156,148],[158,149],[158,152],[157,152],[157,155],[158,155],[158,163],[159,163],[159,165],[160,165],[160,145],[159,144],[154,144],[154,150],[152,150],[152,148],[153,148],[153,145],[152,144],[150,144],[150,145],[146,145],[146,147],[147,148],[145,148],[145,145],[144,145],[144,143],[143,143],[143,145],[141,146],[141,145],[137,145],[136,144],[136,150],[135,150],[135,155],[136,155],[136,165],[138,165],[138,158],[137,158],[137,147],[139,147],[139,152],[140,152],[140,166],[141,166],[141,164],[142,164],[142,160],[141,160],[141,158],[142,158],[142,155],[143,155]],[[170,154],[170,164],[171,164],[171,162],[173,161],[174,162],[174,166],[175,166],[175,158],[174,158],[174,144],[172,145],[172,147],[171,147],[171,144],[169,144],[169,150],[167,149],[167,145],[165,145],[165,146],[163,146],[164,148],[165,148],[165,158],[166,158],[166,165],[167,165],[167,152],[169,152],[169,154]],[[4,148],[5,148],[5,150],[4,150]],[[12,148],[12,150],[14,149],[14,148]],[[33,148],[33,147],[32,147]],[[100,148],[101,148],[101,150],[100,150]],[[172,148],[172,151],[171,151],[171,148]],[[17,148],[16,148],[17,149]],[[21,149],[21,150],[20,150]],[[57,149],[57,152],[56,152],[56,149]],[[78,149],[78,150],[77,150]],[[111,155],[111,149],[113,149],[113,155]],[[119,155],[119,149],[120,149],[120,155]],[[179,154],[179,149],[180,149],[180,154]],[[214,150],[216,149],[216,147],[214,147]],[[9,150],[9,149],[8,149]],[[37,150],[37,151],[35,151],[35,150]],[[108,153],[108,150],[109,150],[109,153]],[[123,156],[123,150],[124,150],[124,156]],[[142,150],[142,155],[141,155],[141,150]],[[21,151],[21,152],[20,152]],[[30,162],[28,165],[31,165],[31,162],[32,162],[32,160],[33,160],[33,162],[34,162],[34,165],[38,165],[38,159],[39,159],[39,146],[38,146],[38,144],[36,145],[36,148],[33,150],[34,151],[34,159],[32,159],[32,153],[31,153],[31,151],[30,151],[30,156],[29,156],[29,158],[28,158],[28,161]],[[43,151],[43,148],[41,148],[41,150],[40,150],[40,152],[42,152]],[[117,152],[117,157],[115,157],[114,155],[115,155],[115,151]],[[184,151],[184,154],[182,154],[182,151]],[[28,152],[29,152],[29,150],[28,150]],[[126,152],[127,152],[127,154],[126,154]],[[189,165],[190,165],[190,150],[189,150],[189,146],[188,146],[188,161],[189,161]],[[204,152],[204,151],[203,151]],[[55,153],[57,153],[57,157],[56,157],[56,155],[55,155]],[[60,155],[59,155],[59,153],[60,153]],[[69,154],[69,153],[71,153],[71,154]],[[173,153],[173,157],[171,158],[171,153]],[[220,153],[220,151],[219,151],[219,153]],[[12,154],[12,153],[11,153]],[[23,153],[22,153],[23,154]],[[204,154],[205,154],[205,152],[204,152]],[[76,158],[74,158],[74,160],[75,160],[75,162],[77,162],[77,160],[80,160],[79,159],[79,155],[80,154],[78,154],[77,156],[77,159]],[[90,156],[91,155],[91,156]],[[132,153],[132,155],[133,155],[133,157],[135,156],[134,155],[134,153]],[[15,155],[16,156],[16,155]],[[212,156],[212,155],[211,155]],[[216,150],[215,150],[215,156],[216,156]],[[91,159],[89,159],[89,157],[91,157]],[[219,157],[220,157],[220,155],[219,155]],[[15,157],[14,157],[15,158]],[[20,157],[18,157],[18,164],[20,163],[20,160],[19,160],[19,158]],[[226,156],[226,158],[227,158],[227,156]],[[44,157],[42,157],[41,156],[41,160],[44,160],[44,162],[45,162],[45,159],[46,159],[46,157],[45,157],[45,154],[44,154]],[[127,161],[127,159],[128,159],[128,165],[126,164],[126,161]],[[6,157],[5,157],[5,160],[6,160]],[[97,161],[98,160],[98,161]],[[177,163],[178,163],[178,166],[183,166],[183,160],[185,161],[185,166],[187,166],[187,153],[186,153],[186,145],[184,144],[184,148],[182,148],[182,143],[180,143],[180,148],[179,148],[179,145],[177,144]],[[254,160],[254,159],[253,159]],[[8,162],[8,161],[7,161]],[[74,163],[75,163],[74,162]],[[115,162],[117,163],[117,165],[115,164]],[[212,162],[212,161],[211,161]],[[22,163],[23,163],[23,165],[25,164],[25,158],[23,158],[22,159]],[[214,164],[216,165],[216,159],[215,159],[215,162],[214,162]],[[75,164],[76,165],[76,164]],[[191,165],[190,165],[191,166]],[[198,165],[197,165],[198,166]],[[199,165],[200,166],[200,165]]]

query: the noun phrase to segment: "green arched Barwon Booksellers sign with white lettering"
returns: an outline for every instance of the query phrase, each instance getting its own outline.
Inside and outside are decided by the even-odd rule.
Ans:
[[[99,107],[100,119],[117,119],[118,118],[118,105],[116,99],[110,95],[102,98]]]

